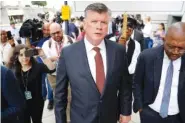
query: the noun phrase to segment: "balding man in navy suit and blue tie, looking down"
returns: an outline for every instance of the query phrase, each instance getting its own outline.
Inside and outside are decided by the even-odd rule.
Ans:
[[[134,77],[141,123],[185,123],[185,23],[169,27],[164,46],[145,50]]]

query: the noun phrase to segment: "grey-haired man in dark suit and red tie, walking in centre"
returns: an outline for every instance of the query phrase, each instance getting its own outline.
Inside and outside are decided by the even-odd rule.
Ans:
[[[108,8],[93,3],[85,9],[83,41],[63,48],[55,92],[56,123],[66,123],[67,88],[71,87],[71,123],[128,123],[132,83],[125,48],[105,40]]]

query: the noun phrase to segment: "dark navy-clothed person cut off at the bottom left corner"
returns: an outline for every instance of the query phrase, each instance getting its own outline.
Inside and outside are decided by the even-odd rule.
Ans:
[[[1,66],[1,122],[22,123],[25,100],[12,71]]]

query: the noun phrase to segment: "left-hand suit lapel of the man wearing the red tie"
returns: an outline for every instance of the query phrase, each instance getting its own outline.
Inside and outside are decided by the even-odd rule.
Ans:
[[[88,62],[88,58],[87,58],[87,52],[86,52],[86,48],[85,48],[85,43],[84,41],[81,41],[81,53],[79,56],[82,56],[82,59],[81,59],[81,66],[84,66],[84,67],[81,67],[80,69],[83,69],[84,68],[84,72],[83,74],[85,74],[85,76],[88,78],[88,82],[92,85],[92,87],[100,94],[97,86],[96,86],[96,83],[93,79],[93,76],[91,74],[91,70],[90,70],[90,67],[89,67],[89,62]]]

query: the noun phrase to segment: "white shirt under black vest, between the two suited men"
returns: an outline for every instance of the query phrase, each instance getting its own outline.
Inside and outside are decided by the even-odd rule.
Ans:
[[[129,43],[130,40],[128,40],[126,42],[126,52],[128,50],[128,43]],[[141,53],[141,46],[140,46],[140,43],[136,40],[134,40],[134,43],[135,43],[135,49],[134,49],[134,53],[132,55],[132,60],[131,60],[131,63],[130,65],[128,66],[128,72],[129,74],[134,74],[135,73],[135,69],[136,69],[136,64],[137,64],[137,58],[139,56],[139,54]]]

